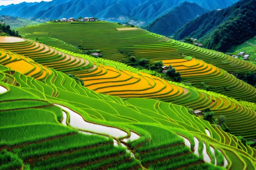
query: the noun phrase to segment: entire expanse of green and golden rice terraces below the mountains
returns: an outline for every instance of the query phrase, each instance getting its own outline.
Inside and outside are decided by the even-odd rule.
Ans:
[[[254,64],[112,22],[17,31],[0,36],[0,170],[256,169],[256,89],[229,73]],[[225,123],[192,113],[205,109]]]

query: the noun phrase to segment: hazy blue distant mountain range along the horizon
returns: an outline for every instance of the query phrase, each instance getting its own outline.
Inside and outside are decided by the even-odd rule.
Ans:
[[[22,2],[7,6],[0,10],[0,15],[52,19],[79,16],[107,19],[126,16],[134,20],[143,20],[148,24],[185,1],[195,2],[200,7],[212,10],[223,9],[238,0],[52,0],[34,5]]]

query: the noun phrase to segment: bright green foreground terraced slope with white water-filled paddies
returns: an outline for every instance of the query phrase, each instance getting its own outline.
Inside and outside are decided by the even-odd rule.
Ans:
[[[22,73],[15,72],[16,75],[22,75]],[[9,68],[2,66],[1,73],[9,75]],[[65,79],[64,82],[73,80],[61,72],[55,71],[52,73],[56,74],[54,77],[62,75]],[[176,169],[189,168],[191,164],[197,168],[213,168],[214,162],[218,163],[224,160],[223,154],[225,152],[222,149],[223,147],[226,148],[227,153],[231,152],[231,150],[239,150],[231,144],[226,144],[225,140],[224,142],[222,141],[223,139],[221,139],[220,135],[225,134],[225,132],[220,128],[215,130],[216,127],[188,114],[182,106],[153,99],[130,98],[122,100],[118,97],[95,93],[82,86],[73,87],[73,90],[76,90],[76,93],[72,93],[72,95],[75,95],[73,100],[72,97],[68,97],[71,92],[64,90],[64,88],[69,89],[68,86],[71,84],[64,82],[62,83],[62,89],[58,88],[58,96],[55,98],[47,94],[43,95],[43,91],[46,91],[53,84],[46,83],[44,87],[39,86],[40,82],[34,79],[34,81],[30,81],[30,84],[26,84],[31,89],[34,89],[32,94],[29,93],[31,89],[22,87],[24,86],[21,85],[24,83],[21,82],[22,79],[17,79],[19,86],[1,82],[1,86],[8,89],[8,92],[0,95],[2,107],[0,111],[2,115],[0,131],[1,134],[4,134],[1,136],[1,152],[2,155],[13,154],[18,157],[15,162],[13,161],[8,165],[3,164],[1,166],[3,169],[10,167],[64,169],[74,168],[75,166],[86,167],[87,169],[120,169],[121,167],[126,169],[172,167]],[[56,81],[54,82],[57,83]],[[41,88],[43,88],[43,91]],[[19,95],[11,95],[11,93]],[[69,99],[68,101],[67,98]],[[30,100],[30,102],[28,103],[26,100]],[[91,102],[86,102],[88,100]],[[61,108],[58,107],[58,104],[53,105],[52,102],[60,103],[62,105]],[[24,103],[24,105],[21,103]],[[144,104],[146,104],[146,107]],[[94,105],[100,107],[90,110],[90,108],[95,108]],[[108,113],[106,113],[106,105],[108,105]],[[71,109],[79,109],[79,115],[83,116],[83,119],[75,118]],[[48,111],[46,112],[46,110]],[[8,121],[3,121],[6,119],[4,115],[8,115],[6,114],[7,112],[9,113]],[[64,119],[65,123],[62,121],[64,114],[67,114]],[[134,116],[131,117],[131,115]],[[114,144],[110,137],[115,136],[115,133],[112,134],[113,130],[100,135],[101,132],[96,129],[81,129],[80,127],[78,130],[82,130],[81,132],[83,133],[78,133],[76,129],[68,128],[73,126],[72,122],[74,120],[72,119],[77,119],[76,122],[88,120],[96,124],[106,124],[112,127],[113,130],[119,128],[127,133],[114,137],[114,143],[116,142]],[[59,122],[62,122],[63,126]],[[57,127],[58,130],[56,131]],[[105,129],[104,126],[102,127]],[[26,128],[26,130],[20,133],[21,128]],[[47,130],[42,130],[41,128],[47,128]],[[31,133],[32,131],[33,133]],[[9,132],[13,135],[9,135]],[[38,136],[34,137],[34,133],[38,134]],[[194,136],[196,136],[198,142],[194,141]],[[184,139],[190,142],[187,147],[184,147]],[[202,143],[202,139],[204,143]],[[214,148],[222,150],[220,152],[222,153],[222,156],[220,156],[222,159],[216,157],[216,161],[212,161],[213,164],[211,165],[205,163],[207,160],[204,159],[206,157],[205,154],[217,154],[215,151],[207,151],[209,143],[212,142],[218,143]],[[61,143],[65,143],[65,145],[61,145]],[[201,144],[204,144],[204,148],[200,149]],[[227,146],[230,149],[227,149]],[[243,145],[240,144],[240,146]],[[125,147],[130,151],[127,152]],[[196,152],[198,155],[193,155],[192,150],[197,150],[195,148],[198,148]],[[203,150],[205,150],[205,153]],[[108,158],[104,157],[105,153]],[[134,156],[131,157],[131,153]],[[241,159],[241,161],[252,159],[251,155],[241,150],[238,153],[237,158]],[[85,157],[88,159],[85,159]],[[211,163],[213,157],[210,156],[208,159],[210,159],[208,162]],[[65,163],[57,163],[60,160],[65,160]],[[141,160],[141,163],[138,160]],[[228,160],[230,165],[236,161],[234,158]],[[224,164],[221,162],[219,164],[220,166],[214,167],[214,169],[222,169],[221,166]],[[227,165],[225,164],[225,166]],[[232,169],[232,166],[230,168]]]

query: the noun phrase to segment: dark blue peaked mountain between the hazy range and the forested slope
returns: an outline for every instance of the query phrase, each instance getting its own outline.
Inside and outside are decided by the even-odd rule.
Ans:
[[[153,33],[169,36],[189,20],[207,11],[207,9],[200,7],[196,3],[183,2],[180,6],[175,7],[173,10],[145,26],[144,29]]]

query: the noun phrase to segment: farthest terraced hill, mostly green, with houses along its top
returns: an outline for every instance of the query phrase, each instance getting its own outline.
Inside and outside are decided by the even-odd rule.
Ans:
[[[36,38],[38,35],[40,36],[51,32],[53,38],[57,38],[74,46],[81,46],[83,49],[98,49],[102,51],[101,54],[103,54],[104,59],[117,62],[126,62],[126,60],[129,60],[130,57],[127,55],[127,53],[129,53],[136,58],[146,58],[152,61],[174,60],[170,63],[175,63],[176,59],[182,59],[181,53],[182,55],[193,57],[193,60],[196,59],[201,63],[195,71],[189,68],[182,71],[182,77],[184,77],[187,82],[192,83],[196,88],[205,89],[204,86],[200,86],[200,84],[204,82],[202,79],[205,79],[205,77],[208,76],[207,74],[212,75],[214,73],[214,75],[216,75],[214,79],[222,80],[222,82],[216,83],[214,79],[210,82],[209,80],[204,82],[206,86],[209,86],[211,91],[236,99],[256,102],[254,97],[256,93],[255,89],[229,74],[230,72],[236,71],[245,73],[247,70],[256,72],[256,66],[254,64],[236,59],[224,53],[171,40],[143,29],[134,27],[127,28],[110,22],[94,22],[82,25],[83,26],[81,26],[81,24],[70,23],[45,23],[20,28],[18,31],[21,35],[25,35],[25,38],[27,36],[28,38]],[[71,32],[75,29],[81,32],[90,32],[91,34],[80,36],[80,33],[72,33],[72,36],[64,36],[59,33],[61,29],[67,32]],[[122,29],[123,31],[117,31],[117,29]],[[122,53],[120,53],[120,51],[122,51]],[[219,68],[221,68],[221,70],[219,70]],[[191,71],[194,74],[191,74],[192,77],[188,78],[190,77],[188,72]],[[238,88],[240,92],[237,91]]]

